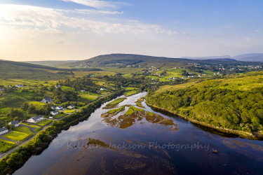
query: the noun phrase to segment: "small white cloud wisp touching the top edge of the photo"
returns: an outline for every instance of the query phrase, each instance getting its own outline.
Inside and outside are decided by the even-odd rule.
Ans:
[[[97,1],[97,0],[61,0],[65,2],[79,3],[84,6],[90,6],[93,8],[109,9],[109,8],[119,8],[120,5],[127,5],[127,3],[112,2],[112,1]]]

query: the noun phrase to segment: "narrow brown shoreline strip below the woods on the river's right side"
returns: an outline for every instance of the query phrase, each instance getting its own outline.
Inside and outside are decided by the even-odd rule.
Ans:
[[[151,108],[154,108],[154,109],[159,109],[161,111],[166,111],[168,113],[173,113],[175,114],[176,116],[180,117],[180,118],[183,118],[184,120],[187,120],[191,123],[195,123],[197,125],[202,125],[204,127],[209,127],[209,128],[212,128],[214,130],[217,130],[217,131],[220,131],[220,132],[223,132],[223,133],[226,133],[226,134],[236,134],[240,137],[244,137],[244,138],[247,138],[247,139],[252,139],[252,140],[263,140],[263,133],[262,132],[243,132],[243,131],[238,131],[238,130],[229,130],[227,128],[224,128],[224,127],[215,127],[213,125],[209,125],[209,124],[206,124],[206,123],[203,123],[203,122],[200,122],[198,120],[194,120],[194,119],[191,119],[191,118],[187,118],[185,116],[181,116],[180,114],[178,113],[175,113],[173,111],[170,111],[168,109],[163,109],[159,106],[154,106],[154,105],[151,105],[147,102],[145,102],[147,104],[147,106],[150,106]]]

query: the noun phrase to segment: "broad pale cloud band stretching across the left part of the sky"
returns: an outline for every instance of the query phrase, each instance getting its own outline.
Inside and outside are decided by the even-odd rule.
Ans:
[[[75,10],[76,13],[104,13],[104,10]],[[0,4],[0,23],[20,29],[37,29],[39,31],[61,31],[74,29],[74,32],[87,31],[95,34],[177,34],[161,25],[142,24],[130,20],[121,22],[100,22],[85,18],[72,18],[66,15],[67,10]],[[48,31],[50,32],[50,31]]]

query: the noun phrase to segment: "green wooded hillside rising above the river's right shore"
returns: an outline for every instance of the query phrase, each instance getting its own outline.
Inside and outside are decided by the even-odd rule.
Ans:
[[[263,72],[165,85],[147,102],[216,127],[263,130]]]

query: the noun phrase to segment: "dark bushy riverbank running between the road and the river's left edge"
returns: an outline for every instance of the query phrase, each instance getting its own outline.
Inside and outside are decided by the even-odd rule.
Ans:
[[[88,118],[90,114],[93,113],[95,109],[99,108],[104,102],[108,102],[121,94],[123,94],[123,91],[109,94],[81,108],[81,110],[76,113],[72,113],[71,115],[62,118],[60,121],[54,121],[53,125],[36,134],[36,137],[34,137],[32,141],[29,141],[24,146],[20,146],[13,153],[6,155],[0,161],[0,174],[11,174],[24,165],[32,155],[47,148],[62,130],[67,130],[67,128],[72,125],[77,125],[82,120],[86,120],[86,118]]]

